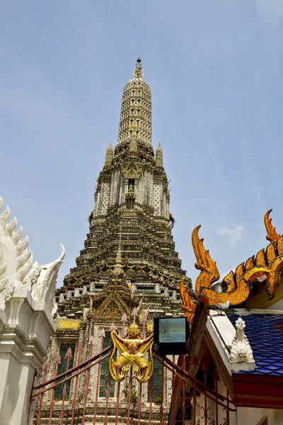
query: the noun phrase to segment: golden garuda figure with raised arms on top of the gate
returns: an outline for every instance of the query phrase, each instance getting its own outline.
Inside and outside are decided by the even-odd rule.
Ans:
[[[111,340],[114,347],[110,356],[109,371],[115,381],[122,381],[130,366],[132,366],[139,382],[148,381],[154,373],[154,359],[152,357],[153,331],[146,339],[142,339],[139,334],[139,327],[136,323],[129,325],[125,338],[119,336],[116,329],[111,331]],[[114,360],[116,350],[120,353],[117,361]],[[144,358],[144,354],[147,351],[149,351],[151,359],[149,363]]]

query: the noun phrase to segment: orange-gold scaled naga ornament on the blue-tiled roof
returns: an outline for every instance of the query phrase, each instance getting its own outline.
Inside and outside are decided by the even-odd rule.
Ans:
[[[256,280],[266,280],[265,289],[269,300],[272,300],[283,269],[283,236],[277,234],[275,227],[272,226],[271,211],[267,211],[264,217],[267,231],[266,239],[270,241],[270,244],[266,249],[261,249],[256,256],[250,257],[246,263],[241,263],[235,272],[230,271],[219,283],[221,290],[217,290],[217,292],[215,287],[212,286],[219,279],[216,261],[212,260],[209,251],[204,248],[203,239],[199,237],[200,226],[195,227],[192,232],[192,247],[197,259],[195,268],[200,270],[200,275],[195,283],[197,299],[205,298],[208,305],[228,301],[231,302],[231,305],[239,305],[247,300]],[[183,300],[185,317],[188,317],[189,322],[191,322],[195,307],[192,305],[190,295],[185,295],[184,283],[182,282],[180,283],[180,295]]]

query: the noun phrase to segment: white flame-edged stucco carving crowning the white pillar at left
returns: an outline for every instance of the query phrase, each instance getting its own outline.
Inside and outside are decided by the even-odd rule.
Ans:
[[[0,211],[3,200],[0,197]],[[42,266],[33,263],[33,253],[28,249],[28,236],[22,240],[23,228],[16,231],[16,217],[10,219],[7,207],[0,214],[0,311],[17,288],[28,288],[33,298],[45,301],[51,311],[59,266],[64,258],[64,246],[59,259]]]

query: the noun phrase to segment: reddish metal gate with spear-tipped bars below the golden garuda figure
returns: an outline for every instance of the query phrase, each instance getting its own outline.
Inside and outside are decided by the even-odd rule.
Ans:
[[[89,358],[81,362],[82,344],[76,348],[76,365],[69,367],[74,352],[67,349],[65,370],[60,372],[59,354],[54,365],[45,363],[42,382],[30,397],[28,425],[229,425],[236,412],[216,370],[213,377],[205,364],[198,375],[188,375],[186,356],[154,354],[154,375],[149,382],[137,381],[132,368],[122,382],[105,373],[112,348],[95,356],[93,341]],[[47,380],[52,369],[52,378]],[[195,359],[195,372],[197,372]],[[62,370],[61,370],[62,372]]]

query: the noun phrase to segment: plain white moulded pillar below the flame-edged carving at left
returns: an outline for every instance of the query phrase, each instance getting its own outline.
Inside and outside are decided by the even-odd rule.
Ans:
[[[41,373],[55,330],[48,313],[23,291],[23,297],[9,301],[5,317],[0,315],[0,425],[27,425],[35,370]]]

